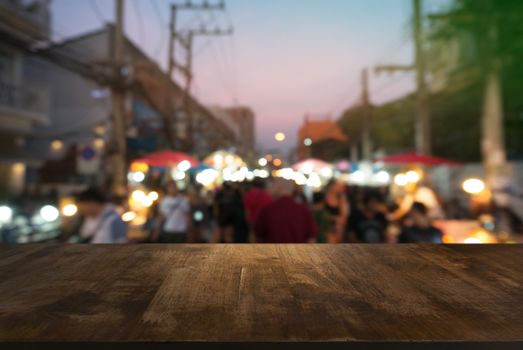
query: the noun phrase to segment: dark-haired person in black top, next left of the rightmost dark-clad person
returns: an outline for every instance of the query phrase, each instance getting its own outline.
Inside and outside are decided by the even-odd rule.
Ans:
[[[368,192],[360,208],[349,216],[348,231],[352,241],[359,243],[385,243],[389,222],[383,213],[383,203],[378,193]]]

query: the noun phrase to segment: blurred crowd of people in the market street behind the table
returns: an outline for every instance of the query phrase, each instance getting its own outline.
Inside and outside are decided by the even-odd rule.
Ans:
[[[394,201],[388,188],[332,181],[306,193],[281,178],[224,183],[215,191],[181,191],[167,183],[149,210],[142,242],[150,243],[442,243],[430,189]],[[423,192],[423,191],[422,191]],[[117,207],[90,189],[77,196],[78,242],[128,242]]]

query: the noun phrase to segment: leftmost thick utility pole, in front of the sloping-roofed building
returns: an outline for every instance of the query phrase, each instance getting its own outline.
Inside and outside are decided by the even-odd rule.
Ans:
[[[124,65],[124,1],[115,0],[116,22],[113,31],[113,84],[112,84],[112,140],[111,140],[111,190],[116,195],[126,192],[126,136],[125,136],[125,87],[122,79]]]

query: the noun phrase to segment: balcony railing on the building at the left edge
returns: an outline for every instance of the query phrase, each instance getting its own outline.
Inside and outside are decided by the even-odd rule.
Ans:
[[[0,107],[47,119],[49,94],[42,87],[14,86],[0,81]]]

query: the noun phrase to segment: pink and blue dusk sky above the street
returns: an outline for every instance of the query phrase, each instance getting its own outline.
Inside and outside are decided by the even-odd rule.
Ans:
[[[427,7],[444,1],[429,1]],[[171,2],[126,1],[126,34],[162,66]],[[363,68],[412,59],[410,0],[227,0],[226,5],[226,12],[180,13],[179,28],[232,25],[235,31],[232,37],[196,41],[194,93],[204,104],[250,106],[264,149],[295,146],[306,113],[338,117],[357,101]],[[57,39],[96,30],[113,17],[113,1],[53,1]],[[372,100],[401,96],[412,89],[412,78],[372,75]],[[273,140],[277,131],[288,134],[283,145]]]

